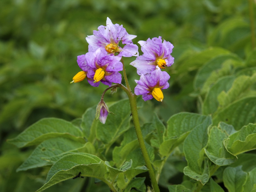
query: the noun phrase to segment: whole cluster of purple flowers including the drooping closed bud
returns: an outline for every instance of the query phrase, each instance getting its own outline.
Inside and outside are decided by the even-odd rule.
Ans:
[[[136,56],[136,60],[130,63],[137,68],[137,73],[140,75],[140,80],[135,80],[137,83],[134,89],[135,95],[142,95],[145,101],[155,98],[162,102],[164,95],[161,90],[169,87],[167,81],[170,76],[161,69],[173,64],[174,58],[171,56],[173,45],[168,41],[162,41],[161,36],[148,38],[147,41],[138,42],[143,52],[139,56],[138,46],[132,43],[135,37],[128,34],[123,25],[113,24],[107,18],[106,26],[101,25],[97,31],[93,31],[93,35],[86,37],[89,52],[77,56],[77,63],[82,71],[78,72],[70,83],[80,82],[86,78],[94,87],[98,87],[100,82],[108,85],[109,88],[112,83],[121,84],[122,75],[119,71],[122,71],[124,66],[120,60],[122,57]],[[124,46],[121,47],[120,42]],[[116,88],[118,85],[113,86]],[[103,100],[105,91],[96,110],[96,118],[99,118],[103,124],[108,113],[111,113]]]

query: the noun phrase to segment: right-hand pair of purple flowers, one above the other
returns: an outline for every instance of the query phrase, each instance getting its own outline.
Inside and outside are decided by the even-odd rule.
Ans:
[[[136,58],[130,65],[137,68],[140,80],[135,80],[137,86],[134,89],[136,95],[142,95],[143,100],[150,100],[153,97],[157,101],[163,101],[162,89],[169,87],[170,76],[165,71],[165,67],[173,64],[174,58],[171,56],[173,45],[168,41],[162,42],[162,37],[154,37],[152,40],[139,41],[142,55]]]

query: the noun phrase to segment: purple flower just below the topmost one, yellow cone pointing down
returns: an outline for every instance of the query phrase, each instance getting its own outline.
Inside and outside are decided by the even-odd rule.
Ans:
[[[112,83],[121,83],[122,75],[118,73],[123,70],[121,56],[108,55],[99,48],[95,52],[88,52],[77,58],[79,67],[87,72],[87,81],[92,86],[98,87],[100,81],[108,86]]]

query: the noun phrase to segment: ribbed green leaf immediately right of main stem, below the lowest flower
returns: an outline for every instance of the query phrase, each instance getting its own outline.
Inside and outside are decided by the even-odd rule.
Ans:
[[[160,154],[169,156],[172,150],[185,140],[191,130],[201,125],[208,127],[211,123],[210,116],[195,113],[182,112],[171,116],[167,121],[166,137],[159,148]]]

